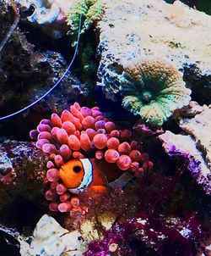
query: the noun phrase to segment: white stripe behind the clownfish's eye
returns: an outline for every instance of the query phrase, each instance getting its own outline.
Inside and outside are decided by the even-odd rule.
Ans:
[[[82,192],[86,186],[89,186],[93,181],[93,165],[89,159],[78,159],[84,167],[84,179],[81,184],[76,188],[69,188],[69,192],[78,194]]]

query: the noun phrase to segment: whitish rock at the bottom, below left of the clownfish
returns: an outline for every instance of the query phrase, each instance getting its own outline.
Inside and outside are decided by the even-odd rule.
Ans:
[[[79,256],[83,255],[83,238],[78,231],[62,228],[52,217],[43,215],[33,232],[32,242],[20,242],[20,254],[45,256]]]

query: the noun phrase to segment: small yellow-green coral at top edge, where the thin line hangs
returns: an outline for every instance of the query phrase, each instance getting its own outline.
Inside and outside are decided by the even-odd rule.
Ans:
[[[80,15],[82,14],[82,32],[90,25],[100,20],[104,13],[104,5],[100,0],[77,0],[68,13],[68,25],[71,26],[70,35],[73,37],[73,46],[77,41]]]

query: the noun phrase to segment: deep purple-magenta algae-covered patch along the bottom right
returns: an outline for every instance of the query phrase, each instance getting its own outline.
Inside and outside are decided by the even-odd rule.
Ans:
[[[113,226],[101,242],[91,242],[85,256],[104,255],[193,255],[197,242],[203,238],[197,216],[192,214],[186,221],[178,218],[150,219],[146,213]],[[144,245],[145,243],[145,245]],[[192,254],[193,253],[193,254]]]

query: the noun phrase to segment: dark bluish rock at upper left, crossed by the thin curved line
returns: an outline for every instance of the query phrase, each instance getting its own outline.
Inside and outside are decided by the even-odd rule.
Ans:
[[[0,41],[13,24],[14,13],[11,7],[0,3]],[[1,117],[12,114],[35,102],[43,96],[63,75],[68,64],[60,53],[46,51],[41,53],[27,42],[24,34],[16,28],[4,45],[0,58],[0,112]],[[23,138],[28,135],[30,127],[52,111],[60,111],[75,100],[83,100],[88,89],[71,73],[51,95],[34,108],[19,114],[14,119],[1,121],[0,132]],[[14,125],[14,122],[16,125]],[[3,131],[3,132],[2,132]]]

